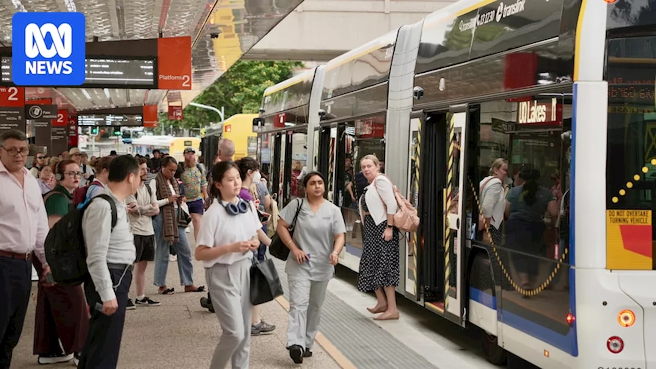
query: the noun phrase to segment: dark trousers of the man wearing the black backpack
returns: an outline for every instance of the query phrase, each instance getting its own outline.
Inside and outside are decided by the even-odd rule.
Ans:
[[[100,295],[91,278],[85,283],[84,290],[87,303],[91,308],[91,321],[89,322],[89,335],[82,350],[82,357],[77,365],[78,369],[115,369],[121,351],[121,337],[123,337],[123,323],[125,323],[125,308],[127,307],[127,293],[132,282],[132,266],[129,269],[112,269],[112,285],[116,294],[119,308],[112,315],[104,315],[95,309],[96,303],[102,305]],[[125,272],[125,274],[124,274]]]

